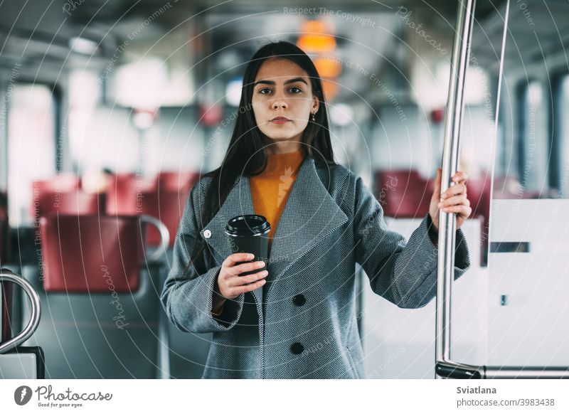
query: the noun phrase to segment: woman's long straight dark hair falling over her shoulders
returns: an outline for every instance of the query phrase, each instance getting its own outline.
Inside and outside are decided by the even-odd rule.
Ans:
[[[314,63],[302,49],[293,43],[286,41],[267,43],[252,56],[245,69],[235,129],[233,129],[223,162],[218,169],[203,174],[203,176],[213,177],[213,180],[206,193],[204,210],[198,217],[201,225],[209,223],[216,215],[239,176],[255,176],[262,173],[267,166],[266,151],[267,147],[272,144],[272,140],[260,132],[257,127],[252,111],[252,94],[257,72],[268,58],[291,60],[307,73],[312,85],[312,94],[318,97],[320,105],[316,120],[314,122],[310,120],[302,134],[302,154],[312,157],[317,164],[336,164],[330,142],[328,112],[322,81]],[[193,260],[196,260],[206,248],[206,241],[201,238],[199,240],[201,242],[194,245],[188,269]]]

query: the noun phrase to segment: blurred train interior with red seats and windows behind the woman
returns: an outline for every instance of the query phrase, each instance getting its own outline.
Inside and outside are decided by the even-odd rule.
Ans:
[[[30,0],[0,11],[0,265],[41,304],[26,341],[0,348],[1,378],[201,378],[211,334],[174,327],[159,296],[188,194],[223,161],[245,64],[264,41],[313,58],[336,160],[389,227],[408,237],[427,214],[454,2]],[[472,266],[452,292],[460,361],[569,361],[568,11],[477,1],[460,140]],[[354,277],[366,378],[433,378],[435,301],[400,309],[361,267]],[[37,309],[1,286],[4,342]]]

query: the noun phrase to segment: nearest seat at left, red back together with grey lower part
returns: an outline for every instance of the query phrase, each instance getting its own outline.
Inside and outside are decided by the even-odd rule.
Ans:
[[[41,218],[43,260],[23,276],[46,309],[26,343],[46,378],[156,378],[161,264],[142,262],[144,231],[137,216]]]

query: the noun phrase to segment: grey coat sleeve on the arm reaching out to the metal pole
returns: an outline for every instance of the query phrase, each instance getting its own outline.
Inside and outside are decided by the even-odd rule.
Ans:
[[[428,230],[432,224],[427,213],[408,242],[403,235],[388,229],[383,208],[356,178],[354,234],[356,261],[369,277],[371,289],[401,308],[420,308],[437,292],[437,248]],[[464,233],[457,230],[454,280],[470,266]]]

